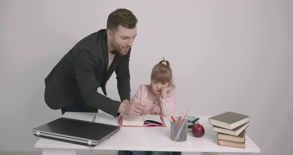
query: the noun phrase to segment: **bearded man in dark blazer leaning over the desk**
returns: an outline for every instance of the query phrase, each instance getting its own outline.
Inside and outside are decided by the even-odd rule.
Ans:
[[[45,78],[45,102],[51,109],[73,112],[105,111],[114,117],[146,115],[140,103],[130,102],[129,58],[137,35],[136,16],[128,9],[109,14],[107,29],[80,40]],[[115,71],[122,102],[105,95],[107,80]]]

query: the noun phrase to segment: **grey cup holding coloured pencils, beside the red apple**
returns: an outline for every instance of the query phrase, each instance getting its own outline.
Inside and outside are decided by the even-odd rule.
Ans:
[[[187,121],[171,123],[170,139],[175,142],[184,142],[187,140]]]

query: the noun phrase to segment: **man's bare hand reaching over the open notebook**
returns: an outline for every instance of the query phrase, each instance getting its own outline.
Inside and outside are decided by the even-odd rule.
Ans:
[[[120,104],[118,112],[122,112],[123,114],[133,118],[137,118],[138,116],[147,115],[147,108],[141,103],[123,100]]]

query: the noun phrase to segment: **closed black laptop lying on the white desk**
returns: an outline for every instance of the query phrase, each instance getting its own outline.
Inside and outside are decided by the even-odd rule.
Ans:
[[[38,137],[96,146],[120,130],[120,126],[61,117],[33,129]]]

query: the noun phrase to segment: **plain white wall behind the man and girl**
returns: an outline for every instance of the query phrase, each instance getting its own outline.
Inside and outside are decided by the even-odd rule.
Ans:
[[[132,95],[164,56],[177,114],[247,114],[261,155],[293,152],[291,0],[0,0],[0,151],[36,150],[32,129],[61,116],[44,102],[44,78],[116,8],[139,18]],[[118,100],[115,80],[107,91]]]

